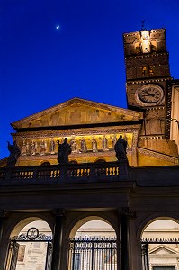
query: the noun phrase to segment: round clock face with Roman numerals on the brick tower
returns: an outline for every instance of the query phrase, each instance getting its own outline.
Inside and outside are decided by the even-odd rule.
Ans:
[[[157,105],[163,101],[164,92],[158,85],[143,85],[136,93],[136,100],[140,105]]]

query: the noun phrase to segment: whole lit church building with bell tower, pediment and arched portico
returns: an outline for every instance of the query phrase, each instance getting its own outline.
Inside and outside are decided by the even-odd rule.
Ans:
[[[0,269],[179,269],[178,229],[166,241],[145,232],[155,220],[179,223],[179,81],[170,75],[164,29],[123,41],[128,109],[73,98],[12,123],[21,154],[14,167],[0,163]],[[115,157],[120,136],[128,162]],[[72,152],[60,165],[65,138]],[[21,234],[40,220],[49,236],[36,225]],[[76,238],[92,220],[109,224],[112,238],[103,229]],[[175,259],[158,260],[161,247]]]

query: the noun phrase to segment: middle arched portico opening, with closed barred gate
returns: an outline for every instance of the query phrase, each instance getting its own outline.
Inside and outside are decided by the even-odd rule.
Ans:
[[[112,224],[102,216],[88,215],[78,220],[70,232],[70,247],[68,269],[75,269],[74,264],[75,266],[95,266],[96,269],[116,269],[117,267],[116,231]]]

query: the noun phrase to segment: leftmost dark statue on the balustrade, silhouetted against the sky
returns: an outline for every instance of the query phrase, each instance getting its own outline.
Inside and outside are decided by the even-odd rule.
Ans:
[[[13,142],[13,145],[11,145],[9,141],[7,141],[7,143],[8,143],[7,148],[10,151],[10,155],[7,159],[6,166],[13,167],[15,166],[17,159],[20,157],[21,151],[15,140]]]

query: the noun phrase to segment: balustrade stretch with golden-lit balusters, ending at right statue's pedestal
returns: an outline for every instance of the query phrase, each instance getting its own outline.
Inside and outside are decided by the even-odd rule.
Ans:
[[[100,182],[127,179],[127,165],[119,162],[103,164],[68,164],[51,166],[16,166],[0,168],[0,185],[67,182]]]

